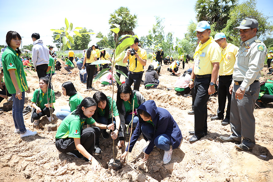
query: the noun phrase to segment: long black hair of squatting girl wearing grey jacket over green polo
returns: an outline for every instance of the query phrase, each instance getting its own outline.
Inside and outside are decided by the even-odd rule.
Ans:
[[[122,105],[123,105],[123,100],[120,98],[120,94],[130,94],[130,102],[132,103],[133,100],[133,95],[135,94],[135,91],[132,91],[132,88],[130,87],[129,84],[127,83],[122,83],[120,87],[117,89],[117,110],[122,113]],[[125,113],[123,113],[125,114]]]

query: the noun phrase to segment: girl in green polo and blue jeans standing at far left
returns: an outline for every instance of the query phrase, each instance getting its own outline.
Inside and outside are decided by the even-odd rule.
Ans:
[[[19,33],[9,31],[6,35],[7,48],[2,54],[2,64],[6,87],[13,96],[12,116],[15,125],[14,133],[20,133],[20,137],[36,135],[37,132],[25,128],[23,109],[25,102],[25,91],[30,93],[23,62],[20,58],[21,36]]]

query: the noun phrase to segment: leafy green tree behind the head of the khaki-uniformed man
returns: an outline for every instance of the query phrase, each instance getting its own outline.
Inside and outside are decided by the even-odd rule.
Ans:
[[[225,33],[228,42],[237,46],[240,45],[241,39],[238,29],[233,30],[233,28],[239,26],[244,18],[253,18],[259,22],[259,31],[257,32],[258,37],[263,37],[272,33],[272,22],[268,21],[266,16],[257,9],[256,3],[257,1],[247,0],[236,6],[230,12],[226,27],[222,30],[222,32]]]

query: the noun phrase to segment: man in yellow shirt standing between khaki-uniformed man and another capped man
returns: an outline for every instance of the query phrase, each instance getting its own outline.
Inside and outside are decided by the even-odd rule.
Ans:
[[[218,85],[218,110],[217,115],[210,117],[212,120],[224,119],[225,103],[228,97],[228,106],[225,119],[221,122],[223,126],[229,124],[230,118],[230,103],[231,94],[229,93],[229,86],[232,82],[233,66],[235,64],[235,56],[239,48],[231,43],[227,43],[224,33],[216,33],[214,41],[218,43],[222,51],[222,59],[220,61],[219,78],[216,81]]]

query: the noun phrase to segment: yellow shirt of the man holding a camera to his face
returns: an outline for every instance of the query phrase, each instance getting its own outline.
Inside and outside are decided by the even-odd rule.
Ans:
[[[138,47],[137,54],[142,60],[147,60],[147,53],[145,49]],[[130,64],[129,70],[131,72],[143,72],[144,71],[143,65],[140,63],[139,60],[136,61],[135,58],[136,58],[135,55],[134,56],[129,55],[129,64]]]

